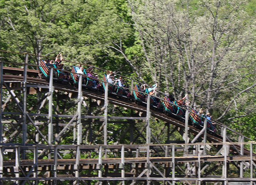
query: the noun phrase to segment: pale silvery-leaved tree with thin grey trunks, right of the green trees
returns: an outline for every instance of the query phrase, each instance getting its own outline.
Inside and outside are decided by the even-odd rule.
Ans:
[[[244,1],[191,2],[130,5],[154,80],[165,81],[176,98],[189,93],[195,108],[218,109],[219,120],[256,86],[255,22]]]

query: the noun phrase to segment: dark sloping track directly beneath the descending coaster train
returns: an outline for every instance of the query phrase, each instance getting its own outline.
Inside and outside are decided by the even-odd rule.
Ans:
[[[15,70],[15,69],[13,69]],[[37,71],[34,71],[34,75],[37,74]],[[3,79],[6,83],[21,83],[23,81],[23,76],[17,76],[17,75],[3,75]],[[33,87],[33,86],[42,86],[45,87],[46,89],[49,86],[49,82],[47,82],[45,79],[39,79],[39,78],[33,78],[33,77],[27,77],[27,86],[28,87]],[[16,87],[19,88],[19,87]],[[60,84],[60,83],[54,83],[54,88],[55,90],[59,91],[65,91],[68,93],[76,93],[78,91],[78,88],[75,86],[72,86],[71,84]],[[86,89],[83,88],[83,96],[97,99],[100,101],[104,101],[104,94],[103,91],[100,90],[93,90],[93,89]],[[122,106],[126,107],[128,109],[136,110],[138,112],[143,112],[146,113],[147,109],[145,106],[142,105],[137,105],[135,102],[132,101],[125,101],[124,99],[117,98],[115,96],[109,95],[108,97],[109,103],[117,106]],[[185,124],[181,121],[178,121],[172,117],[166,116],[164,113],[151,110],[151,116],[158,118],[159,120],[165,121],[169,124],[175,125],[178,128],[184,129]],[[197,135],[200,130],[196,129],[195,127],[189,125],[189,132],[193,133],[194,135]],[[245,136],[244,136],[245,137]],[[207,140],[212,142],[212,143],[221,143],[223,140],[219,137],[212,136],[207,133]],[[237,149],[236,149],[237,148]],[[237,150],[240,150],[240,146],[234,146],[231,147],[231,150],[237,152]],[[249,151],[244,149],[245,154],[249,154]]]

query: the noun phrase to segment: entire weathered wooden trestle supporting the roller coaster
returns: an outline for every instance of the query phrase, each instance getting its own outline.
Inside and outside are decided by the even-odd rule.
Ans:
[[[37,70],[28,69],[36,67],[29,64],[30,54],[23,54],[25,63],[0,62],[0,184],[256,182],[255,141],[219,123],[221,137],[200,131],[188,124],[188,110],[181,122],[151,110],[149,102],[143,106],[110,96],[108,83],[99,92],[83,87],[82,76],[78,87],[40,79]],[[111,116],[113,111],[121,116]],[[152,118],[163,122],[159,133],[151,132]],[[114,130],[115,124],[122,127]],[[172,140],[177,133],[182,139]]]

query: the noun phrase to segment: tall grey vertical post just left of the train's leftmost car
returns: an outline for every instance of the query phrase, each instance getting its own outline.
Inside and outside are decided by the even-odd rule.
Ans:
[[[23,71],[23,124],[22,124],[22,146],[26,146],[27,140],[27,121],[26,121],[26,112],[27,112],[27,63],[29,60],[29,55],[26,54],[26,60]],[[26,159],[26,150],[22,151],[22,158]]]

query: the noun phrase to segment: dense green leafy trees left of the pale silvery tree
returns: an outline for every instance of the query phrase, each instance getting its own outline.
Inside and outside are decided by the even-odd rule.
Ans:
[[[7,0],[0,3],[0,49],[52,57],[62,52],[66,60],[126,66],[131,73],[115,48],[133,45],[132,27],[124,23],[129,19],[125,0]]]

